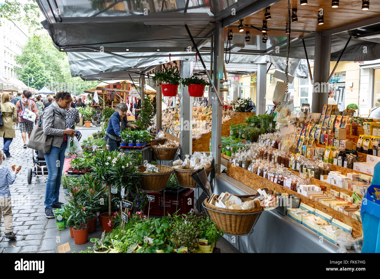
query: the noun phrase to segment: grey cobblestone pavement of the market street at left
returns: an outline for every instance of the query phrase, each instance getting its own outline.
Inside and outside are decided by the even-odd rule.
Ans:
[[[81,131],[83,137],[87,137],[89,132]],[[94,132],[94,131],[91,131]],[[57,246],[69,243],[71,251],[81,251],[93,244],[88,242],[83,245],[74,244],[74,238],[70,237],[68,228],[58,230],[55,218],[47,219],[44,215],[44,195],[46,177],[33,177],[32,183],[28,184],[28,169],[33,166],[32,150],[22,148],[24,142],[19,129],[16,129],[16,137],[10,146],[11,158],[3,161],[3,166],[11,169],[12,165],[22,165],[21,171],[17,174],[16,181],[10,186],[13,212],[13,227],[16,233],[16,240],[8,240],[4,236],[4,224],[1,220],[0,253],[17,252],[58,252]],[[3,148],[3,140],[0,139],[0,149]],[[63,190],[60,190],[60,202],[65,202]],[[101,227],[97,224],[97,231],[89,234],[92,237],[99,237]]]

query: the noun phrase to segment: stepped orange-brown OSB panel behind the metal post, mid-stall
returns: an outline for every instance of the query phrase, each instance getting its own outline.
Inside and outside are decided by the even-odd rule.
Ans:
[[[230,125],[245,123],[245,117],[251,117],[253,112],[240,112],[226,122],[222,123],[222,137],[230,136]],[[211,127],[212,129],[212,127]],[[193,141],[193,152],[195,151],[210,151],[211,131],[204,134],[199,139]]]

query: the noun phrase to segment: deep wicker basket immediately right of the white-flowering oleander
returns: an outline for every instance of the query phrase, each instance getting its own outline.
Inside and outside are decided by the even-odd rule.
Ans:
[[[144,173],[146,170],[145,166],[139,166],[140,169],[140,189],[157,192],[165,189],[168,183],[170,175],[173,173],[172,167],[157,165],[161,172]]]

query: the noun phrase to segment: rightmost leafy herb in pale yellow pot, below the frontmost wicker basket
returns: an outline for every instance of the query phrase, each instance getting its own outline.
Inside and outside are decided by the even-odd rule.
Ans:
[[[202,253],[212,253],[215,242],[219,240],[220,236],[223,236],[223,231],[218,231],[216,229],[215,223],[205,215],[200,220],[198,225],[201,228],[197,236],[198,249],[199,251],[202,251]],[[207,245],[204,245],[206,240]]]

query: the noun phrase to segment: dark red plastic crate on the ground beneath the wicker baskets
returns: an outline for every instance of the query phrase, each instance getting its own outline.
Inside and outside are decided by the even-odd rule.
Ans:
[[[147,192],[149,195],[154,195],[154,202],[150,203],[149,215],[164,215],[164,196],[161,192]],[[190,199],[190,200],[189,200]],[[189,201],[191,204],[189,205]],[[177,206],[178,205],[178,206]],[[145,206],[145,214],[148,214],[149,202]],[[165,194],[165,215],[173,214],[177,210],[177,214],[188,213],[192,208],[194,208],[194,190],[187,189],[177,195]]]

